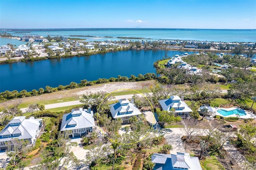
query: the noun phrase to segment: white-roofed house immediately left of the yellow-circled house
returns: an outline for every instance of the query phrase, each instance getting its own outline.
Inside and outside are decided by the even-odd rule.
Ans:
[[[94,128],[93,111],[90,108],[77,108],[63,115],[60,131],[74,138],[76,136],[90,136]]]

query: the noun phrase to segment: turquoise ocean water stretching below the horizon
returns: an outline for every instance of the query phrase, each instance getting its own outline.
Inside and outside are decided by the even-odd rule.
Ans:
[[[50,36],[81,35],[86,41],[120,40],[117,37],[140,37],[144,39],[197,40],[212,42],[256,42],[256,30],[209,30],[209,29],[150,29],[150,28],[84,28],[84,29],[19,29],[7,31],[14,36],[26,34]],[[15,33],[29,32],[29,33]],[[98,36],[98,37],[86,37]],[[110,36],[113,38],[104,38]],[[79,38],[79,37],[78,37]],[[122,39],[124,40],[124,39]],[[132,39],[135,40],[135,39]],[[2,45],[2,42],[0,43]]]

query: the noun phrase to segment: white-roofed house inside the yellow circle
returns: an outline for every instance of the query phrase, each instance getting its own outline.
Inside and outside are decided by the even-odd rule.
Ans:
[[[118,103],[110,105],[110,112],[114,120],[120,118],[122,123],[129,123],[131,117],[141,115],[139,109],[128,99],[120,99]]]

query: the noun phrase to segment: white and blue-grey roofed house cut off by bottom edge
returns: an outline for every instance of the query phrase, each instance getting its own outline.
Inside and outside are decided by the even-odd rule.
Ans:
[[[202,170],[198,157],[189,153],[156,154],[151,156],[154,170]]]

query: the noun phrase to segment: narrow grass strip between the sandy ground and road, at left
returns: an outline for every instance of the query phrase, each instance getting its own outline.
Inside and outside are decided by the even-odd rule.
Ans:
[[[75,100],[79,100],[78,97],[67,97],[67,98],[62,98],[62,99],[52,99],[52,100],[43,100],[43,101],[38,101],[38,102],[34,102],[34,103],[21,103],[18,108],[26,108],[31,104],[35,104],[35,103],[39,103],[40,105],[48,105],[48,104],[52,104],[52,103],[62,103],[62,102],[66,102],[66,101],[75,101]]]

